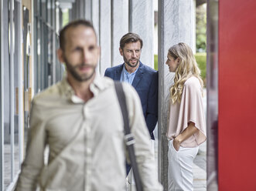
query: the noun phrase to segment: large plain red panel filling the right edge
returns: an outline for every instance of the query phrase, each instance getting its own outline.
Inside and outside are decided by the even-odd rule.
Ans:
[[[256,1],[219,1],[219,191],[256,190]]]

